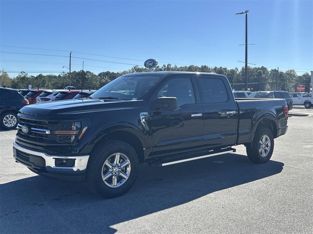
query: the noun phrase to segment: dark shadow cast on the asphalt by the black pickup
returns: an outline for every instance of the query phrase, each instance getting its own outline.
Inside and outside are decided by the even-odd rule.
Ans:
[[[283,166],[254,164],[239,154],[163,168],[141,165],[134,187],[113,199],[90,194],[84,183],[20,179],[1,185],[0,233],[114,233],[115,224],[278,174]]]

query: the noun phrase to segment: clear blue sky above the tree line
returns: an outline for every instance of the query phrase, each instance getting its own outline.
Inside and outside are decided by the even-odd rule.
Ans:
[[[245,10],[248,43],[254,44],[249,63],[299,75],[313,70],[313,1],[3,0],[0,69],[10,77],[59,74],[68,71],[69,51],[72,71],[84,61],[84,70],[95,74],[143,66],[150,58],[160,66],[241,69],[245,16],[235,13]]]

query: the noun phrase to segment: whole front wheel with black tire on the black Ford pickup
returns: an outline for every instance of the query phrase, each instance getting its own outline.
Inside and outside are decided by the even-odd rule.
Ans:
[[[109,140],[90,154],[86,182],[91,192],[105,198],[119,197],[136,181],[139,160],[127,143]]]

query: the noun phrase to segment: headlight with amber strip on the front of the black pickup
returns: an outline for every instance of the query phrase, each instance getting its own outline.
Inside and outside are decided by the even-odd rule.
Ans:
[[[75,139],[75,135],[80,132],[80,122],[60,122],[57,130],[54,134],[57,135],[57,142],[59,143],[71,143]]]

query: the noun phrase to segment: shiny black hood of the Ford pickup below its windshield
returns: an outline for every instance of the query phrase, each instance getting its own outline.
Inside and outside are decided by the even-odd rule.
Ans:
[[[24,106],[20,112],[31,115],[45,116],[48,118],[71,118],[73,115],[77,114],[81,116],[90,112],[125,109],[129,108],[132,103],[132,100],[64,100],[27,105]]]

